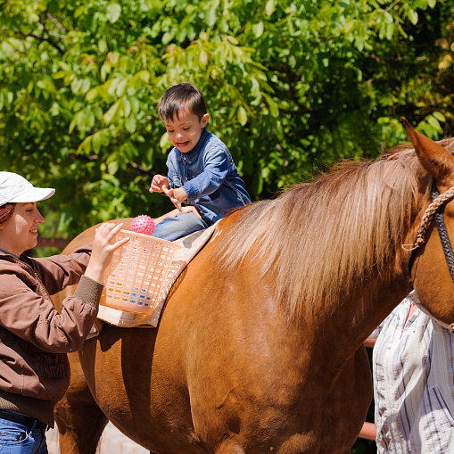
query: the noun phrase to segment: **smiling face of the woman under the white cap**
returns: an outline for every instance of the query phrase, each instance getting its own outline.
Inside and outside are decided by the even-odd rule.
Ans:
[[[44,218],[37,202],[16,203],[12,216],[0,223],[0,248],[21,255],[37,245],[37,228]]]

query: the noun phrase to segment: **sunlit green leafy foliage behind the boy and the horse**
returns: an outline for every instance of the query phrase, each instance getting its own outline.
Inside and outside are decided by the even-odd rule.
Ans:
[[[454,125],[448,0],[6,0],[0,4],[0,163],[54,186],[54,227],[172,208],[157,115],[184,81],[253,198],[339,158],[376,157]],[[56,234],[56,232],[54,232]]]

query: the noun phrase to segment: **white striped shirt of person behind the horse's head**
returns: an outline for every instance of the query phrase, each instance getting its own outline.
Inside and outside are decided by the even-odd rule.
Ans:
[[[421,310],[405,323],[410,298],[369,337],[377,453],[454,454],[454,334]]]

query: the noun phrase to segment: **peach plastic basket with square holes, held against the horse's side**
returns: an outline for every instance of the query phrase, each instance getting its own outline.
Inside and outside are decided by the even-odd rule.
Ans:
[[[113,253],[104,271],[101,304],[135,314],[153,313],[166,285],[173,256],[181,246],[150,235],[120,230],[116,241],[129,238]]]

